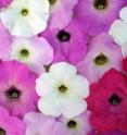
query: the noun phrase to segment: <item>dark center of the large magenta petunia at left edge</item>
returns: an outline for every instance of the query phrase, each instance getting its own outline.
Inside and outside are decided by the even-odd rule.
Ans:
[[[7,96],[10,99],[15,100],[21,97],[21,91],[17,88],[15,88],[14,86],[12,86],[7,90]]]

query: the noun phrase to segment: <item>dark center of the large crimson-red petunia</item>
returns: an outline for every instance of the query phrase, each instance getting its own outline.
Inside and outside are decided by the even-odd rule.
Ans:
[[[109,98],[109,102],[113,106],[118,106],[122,102],[122,98],[118,97],[116,94],[113,94],[110,98]]]

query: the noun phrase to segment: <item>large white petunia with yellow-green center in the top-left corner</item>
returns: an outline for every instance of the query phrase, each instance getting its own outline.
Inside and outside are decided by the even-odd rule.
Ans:
[[[13,0],[1,10],[4,26],[14,36],[31,37],[45,30],[49,19],[48,0]]]

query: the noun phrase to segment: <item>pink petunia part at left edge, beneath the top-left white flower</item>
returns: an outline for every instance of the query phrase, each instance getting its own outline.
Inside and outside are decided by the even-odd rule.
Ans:
[[[0,60],[8,60],[11,51],[12,36],[0,21]]]

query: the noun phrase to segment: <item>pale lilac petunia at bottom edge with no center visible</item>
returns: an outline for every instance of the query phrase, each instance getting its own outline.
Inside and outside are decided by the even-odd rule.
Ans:
[[[26,124],[25,135],[52,135],[55,121],[55,118],[40,112],[28,112],[24,116]]]

